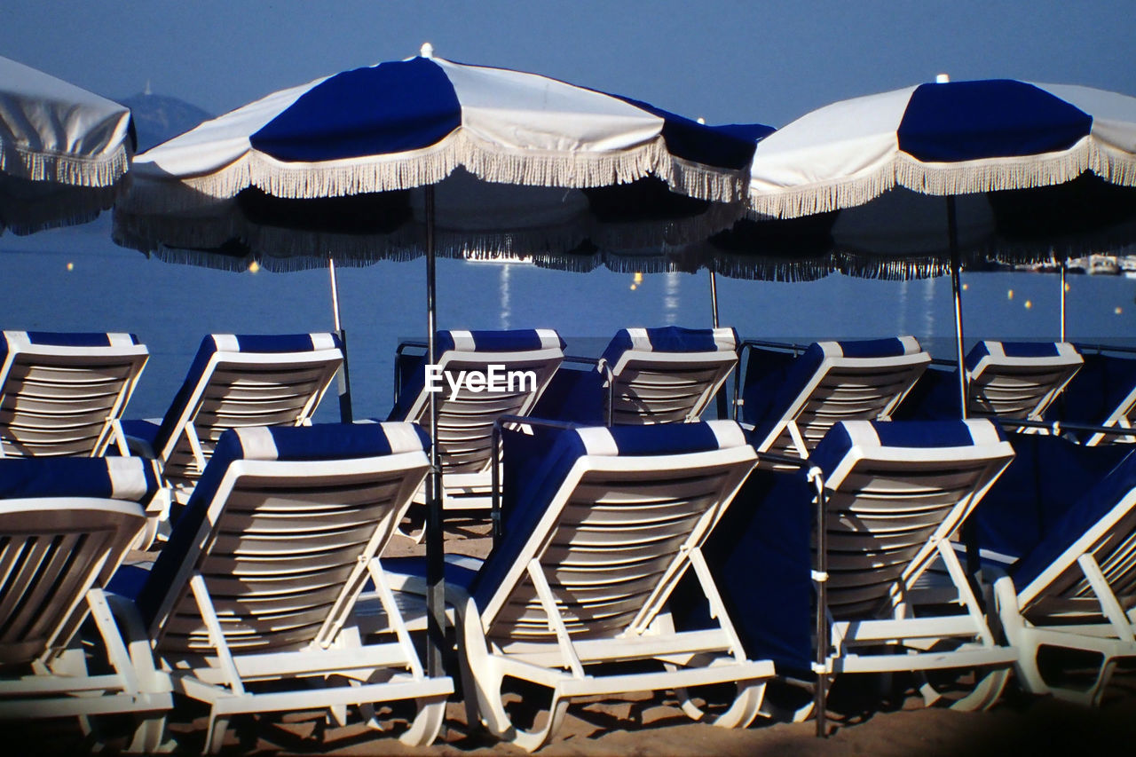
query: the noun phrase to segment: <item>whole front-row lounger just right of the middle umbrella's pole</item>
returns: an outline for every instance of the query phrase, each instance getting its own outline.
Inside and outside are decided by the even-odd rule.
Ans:
[[[735,683],[716,724],[749,725],[774,666],[745,657],[701,552],[753,468],[741,427],[537,424],[532,434],[504,434],[501,542],[484,564],[465,558],[479,569],[448,565],[469,722],[533,750],[576,699],[679,690],[684,710],[700,718],[682,689]],[[425,590],[424,571],[384,563],[392,581],[401,572],[400,585]],[[667,602],[691,568],[716,621],[679,632]],[[644,667],[628,672],[620,662]],[[507,676],[551,692],[543,723],[526,730],[511,721]]]

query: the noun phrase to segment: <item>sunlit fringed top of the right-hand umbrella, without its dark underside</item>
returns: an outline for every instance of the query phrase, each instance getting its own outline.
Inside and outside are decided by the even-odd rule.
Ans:
[[[1136,98],[1013,80],[939,82],[835,102],[762,140],[750,207],[795,218],[862,206],[896,186],[946,197],[1086,172],[1136,186]]]

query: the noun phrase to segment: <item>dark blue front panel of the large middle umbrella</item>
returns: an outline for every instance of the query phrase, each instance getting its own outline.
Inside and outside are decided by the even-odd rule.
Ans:
[[[265,155],[319,163],[418,150],[461,125],[461,103],[426,58],[331,76],[249,138]]]

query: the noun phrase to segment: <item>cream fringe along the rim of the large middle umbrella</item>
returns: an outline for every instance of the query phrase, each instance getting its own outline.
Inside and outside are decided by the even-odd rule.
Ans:
[[[459,128],[437,144],[395,157],[289,164],[250,151],[204,176],[177,182],[148,176],[145,191],[132,193],[126,207],[134,213],[185,210],[200,203],[202,196],[231,198],[250,185],[281,198],[406,190],[436,184],[458,166],[487,182],[573,189],[626,184],[655,175],[677,192],[713,202],[741,201],[749,181],[745,170],[715,168],[673,157],[662,136],[619,152],[509,152]]]

